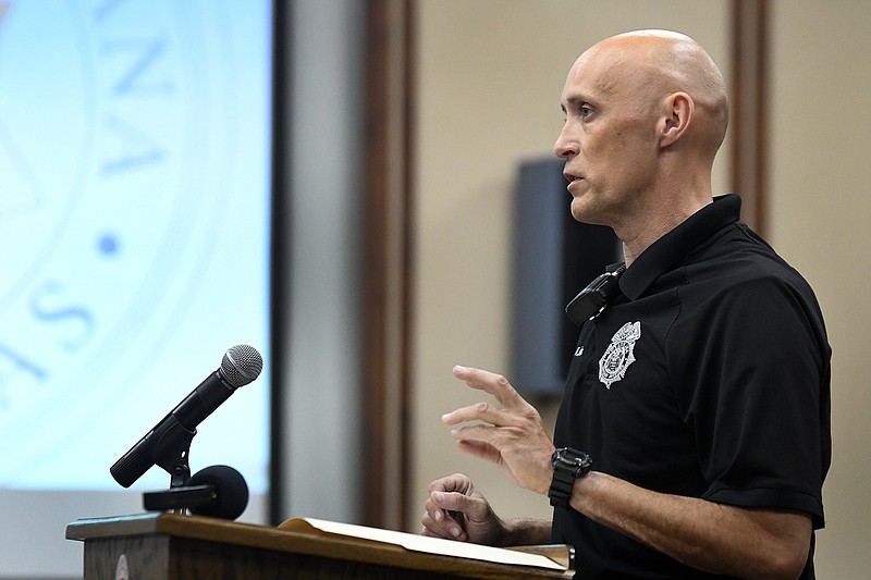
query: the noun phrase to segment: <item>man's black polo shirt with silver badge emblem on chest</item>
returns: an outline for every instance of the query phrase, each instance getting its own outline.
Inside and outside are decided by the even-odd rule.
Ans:
[[[648,490],[805,511],[822,528],[822,313],[739,214],[737,196],[716,198],[626,270],[580,330],[554,443]],[[574,510],[554,510],[553,536],[575,546],[577,578],[708,578]]]

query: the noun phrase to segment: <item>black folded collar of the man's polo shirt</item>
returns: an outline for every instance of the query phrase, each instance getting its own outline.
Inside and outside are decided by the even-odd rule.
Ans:
[[[637,300],[687,254],[719,230],[738,222],[740,213],[741,198],[737,195],[715,197],[713,203],[704,206],[642,251],[621,276],[621,291],[630,300]]]

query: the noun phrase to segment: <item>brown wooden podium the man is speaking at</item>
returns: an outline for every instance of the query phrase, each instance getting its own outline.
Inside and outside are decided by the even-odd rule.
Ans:
[[[553,570],[412,552],[359,538],[175,514],[85,519],[66,527],[85,542],[85,580],[562,578]],[[559,558],[555,558],[559,559]]]

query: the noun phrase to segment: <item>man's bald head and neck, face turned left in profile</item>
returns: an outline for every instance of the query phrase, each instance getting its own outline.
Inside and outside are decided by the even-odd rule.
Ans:
[[[723,76],[691,38],[639,30],[598,42],[572,66],[561,104],[554,152],[572,215],[613,227],[627,256],[711,202],[728,103]]]

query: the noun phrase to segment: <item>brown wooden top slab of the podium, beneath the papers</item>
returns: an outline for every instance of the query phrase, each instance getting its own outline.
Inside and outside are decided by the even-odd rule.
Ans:
[[[575,573],[571,566],[571,548],[567,546],[560,546],[562,550],[549,547],[541,551],[537,551],[536,546],[523,548],[524,552],[547,554],[554,562],[562,560],[561,564],[564,563],[564,566],[557,570],[415,552],[392,543],[324,533],[314,527],[282,529],[203,516],[142,514],[82,519],[66,527],[66,539],[84,541],[86,548],[88,542],[94,540],[143,535],[185,538],[328,559],[437,572],[459,578],[496,580],[522,576],[531,579],[568,579],[573,578]]]

